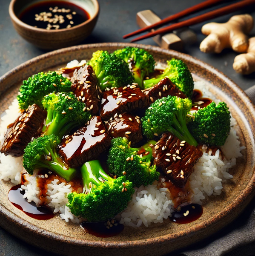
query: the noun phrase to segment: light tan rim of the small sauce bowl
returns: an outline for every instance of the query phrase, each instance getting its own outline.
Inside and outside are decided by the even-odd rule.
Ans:
[[[51,34],[54,34],[54,33],[58,33],[58,32],[66,32],[66,31],[72,31],[72,30],[75,30],[75,29],[79,29],[85,25],[87,25],[88,23],[92,22],[93,20],[95,20],[99,14],[99,11],[100,11],[100,6],[99,6],[99,3],[97,0],[90,0],[94,7],[95,7],[95,14],[90,17],[88,20],[84,21],[83,23],[80,23],[76,26],[73,26],[71,28],[65,28],[65,29],[54,29],[54,30],[47,30],[47,29],[40,29],[40,28],[35,28],[33,26],[30,26],[29,24],[26,24],[24,23],[23,21],[21,21],[17,15],[15,14],[14,12],[14,4],[17,2],[18,0],[11,0],[10,4],[9,4],[9,15],[11,17],[11,20],[13,20],[14,23],[17,23],[19,26],[22,26],[23,28],[26,28],[26,29],[29,29],[29,30],[32,30],[33,32],[43,32],[43,33],[51,33]],[[68,2],[68,0],[65,0]],[[43,0],[42,0],[43,2]]]

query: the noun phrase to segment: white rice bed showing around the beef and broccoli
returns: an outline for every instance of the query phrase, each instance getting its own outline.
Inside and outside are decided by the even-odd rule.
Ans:
[[[70,66],[77,65],[77,61],[71,63]],[[80,63],[78,63],[80,64]],[[219,101],[206,89],[203,82],[195,82],[195,89],[200,89],[203,92],[203,97],[211,98],[216,103]],[[1,115],[0,124],[0,141],[3,143],[4,134],[8,124],[15,121],[19,116],[18,102],[15,99],[9,109]],[[245,147],[240,146],[239,137],[237,135],[238,125],[234,118],[231,118],[231,131],[226,140],[226,143],[221,150],[225,156],[222,159],[220,151],[217,150],[215,155],[206,153],[206,148],[203,148],[203,155],[195,164],[194,172],[189,178],[190,187],[194,192],[193,203],[202,204],[205,196],[220,195],[223,189],[223,182],[231,179],[229,168],[235,166],[236,158],[241,157],[241,150]],[[23,171],[22,157],[13,158],[9,155],[5,156],[0,153],[0,178],[5,181],[11,181],[14,184],[21,183],[21,172]],[[22,186],[25,190],[24,198],[28,201],[34,201],[37,205],[40,204],[40,199],[37,197],[39,188],[37,187],[36,172],[34,175],[26,174],[27,182]],[[173,212],[173,202],[169,191],[166,188],[158,189],[158,182],[153,185],[141,186],[135,188],[135,193],[128,207],[118,215],[120,223],[132,227],[140,227],[144,224],[146,227],[151,223],[163,222]],[[74,223],[80,223],[82,219],[74,216],[66,203],[68,202],[67,195],[71,193],[71,185],[60,183],[57,179],[48,185],[48,204],[54,211],[59,213],[60,218],[66,222],[71,220]]]

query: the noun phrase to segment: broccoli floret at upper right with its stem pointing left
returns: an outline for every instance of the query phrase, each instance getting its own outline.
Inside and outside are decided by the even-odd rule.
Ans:
[[[144,89],[152,87],[163,78],[169,78],[188,98],[192,97],[194,81],[188,67],[182,60],[167,61],[167,67],[161,75],[143,81]]]

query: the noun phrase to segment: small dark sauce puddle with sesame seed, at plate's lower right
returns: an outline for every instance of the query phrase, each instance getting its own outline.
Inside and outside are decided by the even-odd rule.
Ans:
[[[199,204],[187,204],[181,206],[180,211],[174,211],[172,213],[171,221],[178,224],[186,224],[197,220],[203,213],[203,207]]]

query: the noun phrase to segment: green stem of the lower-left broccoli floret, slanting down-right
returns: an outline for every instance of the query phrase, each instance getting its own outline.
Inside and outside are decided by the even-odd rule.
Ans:
[[[54,149],[52,149],[51,147],[46,147],[44,151],[46,155],[49,155],[51,157],[51,160],[41,160],[40,167],[44,167],[53,171],[61,178],[64,178],[67,182],[71,181],[75,177],[76,169],[66,166]],[[64,168],[67,170],[65,170]]]

